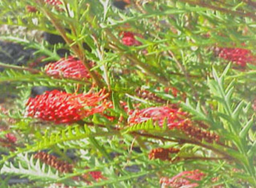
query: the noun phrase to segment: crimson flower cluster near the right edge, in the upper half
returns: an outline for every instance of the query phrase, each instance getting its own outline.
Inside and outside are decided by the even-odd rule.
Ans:
[[[231,62],[245,67],[246,63],[250,63],[253,60],[251,50],[242,48],[220,48],[219,57],[229,60]]]

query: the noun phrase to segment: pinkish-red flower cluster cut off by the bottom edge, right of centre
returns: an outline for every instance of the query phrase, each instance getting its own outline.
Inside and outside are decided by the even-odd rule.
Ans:
[[[162,177],[160,179],[160,184],[162,185],[162,187],[193,188],[199,186],[199,184],[195,183],[194,181],[200,181],[203,179],[204,176],[205,174],[197,169],[194,171],[184,171],[176,176],[173,176],[172,178]],[[191,182],[190,180],[193,181]]]

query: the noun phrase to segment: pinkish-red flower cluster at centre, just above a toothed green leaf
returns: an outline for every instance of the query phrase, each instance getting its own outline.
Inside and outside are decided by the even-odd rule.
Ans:
[[[128,124],[140,124],[152,118],[153,121],[158,121],[159,126],[162,126],[166,119],[168,128],[172,129],[184,124],[186,114],[179,109],[173,109],[167,106],[148,107],[146,109],[132,111],[128,118]]]

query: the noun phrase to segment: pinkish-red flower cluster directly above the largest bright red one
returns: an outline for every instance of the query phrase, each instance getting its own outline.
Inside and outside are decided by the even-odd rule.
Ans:
[[[64,78],[90,78],[90,74],[83,62],[75,57],[69,56],[67,59],[62,58],[55,63],[49,63],[45,66],[45,72],[48,75]]]

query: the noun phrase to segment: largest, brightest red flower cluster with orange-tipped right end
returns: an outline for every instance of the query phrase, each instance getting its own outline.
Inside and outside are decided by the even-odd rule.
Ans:
[[[112,102],[106,101],[108,95],[105,94],[105,89],[87,94],[46,91],[35,98],[29,98],[25,116],[53,121],[56,124],[73,123],[95,113],[103,113],[105,109],[112,107]]]

